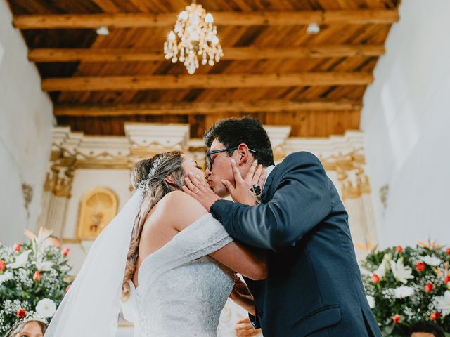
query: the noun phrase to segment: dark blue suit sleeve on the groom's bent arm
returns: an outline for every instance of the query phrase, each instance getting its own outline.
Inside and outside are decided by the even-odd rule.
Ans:
[[[278,251],[295,246],[328,216],[330,180],[319,159],[309,152],[297,152],[280,165],[284,172],[267,203],[248,206],[218,200],[212,205],[212,215],[231,237],[251,246]]]

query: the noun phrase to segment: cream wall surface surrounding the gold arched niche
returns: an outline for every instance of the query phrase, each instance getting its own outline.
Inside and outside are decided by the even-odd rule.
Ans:
[[[130,171],[114,169],[77,169],[75,170],[72,183],[72,197],[69,199],[67,218],[65,221],[63,237],[77,237],[77,221],[79,212],[79,203],[84,194],[91,192],[96,187],[108,187],[113,190],[119,199],[120,211],[127,203],[131,192]]]

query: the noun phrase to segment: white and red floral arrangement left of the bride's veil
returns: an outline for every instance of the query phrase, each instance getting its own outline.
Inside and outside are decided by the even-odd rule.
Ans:
[[[46,241],[49,230],[25,234],[25,244],[0,244],[0,336],[18,319],[49,322],[69,287],[69,249]]]

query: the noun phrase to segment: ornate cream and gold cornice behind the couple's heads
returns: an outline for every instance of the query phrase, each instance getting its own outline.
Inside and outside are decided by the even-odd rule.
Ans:
[[[329,138],[289,138],[290,126],[264,126],[273,145],[276,161],[292,152],[316,154],[326,171],[337,171],[342,197],[357,198],[370,193],[364,173],[364,138],[360,131]],[[189,124],[128,123],[125,136],[84,136],[70,128],[53,129],[51,170],[45,189],[70,196],[73,169],[131,169],[140,159],[154,154],[181,150],[205,165],[203,140],[189,138]]]

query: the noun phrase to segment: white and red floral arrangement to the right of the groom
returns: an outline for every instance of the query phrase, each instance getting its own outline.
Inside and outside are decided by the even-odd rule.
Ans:
[[[417,324],[450,331],[450,248],[436,242],[372,249],[361,275],[385,336],[410,336]]]

